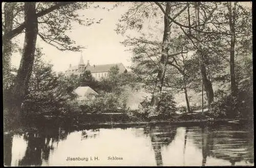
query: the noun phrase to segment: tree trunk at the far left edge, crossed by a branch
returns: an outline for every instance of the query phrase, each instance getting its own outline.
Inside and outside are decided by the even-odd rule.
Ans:
[[[4,34],[12,31],[13,27],[13,10],[16,3],[5,3],[4,14],[5,14],[5,25]],[[3,41],[3,76],[5,77],[11,68],[11,55],[12,55],[12,43],[11,39]],[[4,78],[5,79],[5,78]]]

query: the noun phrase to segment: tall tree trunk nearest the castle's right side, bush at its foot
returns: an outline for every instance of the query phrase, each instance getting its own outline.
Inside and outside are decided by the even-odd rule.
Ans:
[[[170,2],[166,2],[165,15],[164,15],[164,32],[163,32],[163,43],[162,43],[162,54],[160,59],[160,69],[158,71],[158,82],[159,83],[159,93],[155,94],[152,97],[152,106],[157,106],[157,110],[159,109],[159,104],[161,101],[161,93],[162,87],[164,83],[165,70],[168,60],[168,43],[170,38],[170,21],[168,19],[168,15],[170,14]]]

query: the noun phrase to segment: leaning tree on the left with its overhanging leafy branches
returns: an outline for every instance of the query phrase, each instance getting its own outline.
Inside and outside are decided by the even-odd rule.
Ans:
[[[72,2],[25,2],[17,3],[14,6],[16,7],[14,10],[10,10],[11,8],[4,9],[4,25],[5,27],[8,27],[3,33],[4,49],[7,49],[5,50],[5,60],[7,60],[5,64],[10,64],[12,51],[9,49],[11,47],[11,40],[24,30],[25,40],[22,60],[20,62],[14,87],[11,91],[11,96],[9,97],[10,100],[5,101],[7,102],[5,113],[8,114],[9,118],[16,118],[14,120],[18,121],[20,118],[20,105],[26,96],[25,91],[28,88],[32,73],[37,35],[41,37],[42,40],[54,45],[61,51],[78,51],[81,47],[73,45],[75,42],[66,35],[66,31],[71,29],[72,21],[82,24],[82,20],[75,12],[79,9],[87,8],[88,4]],[[6,17],[7,14],[10,16],[12,15],[12,17]],[[14,21],[15,25],[13,25]],[[88,25],[91,24],[88,23]],[[14,27],[14,29],[12,29],[12,27]],[[5,71],[8,71],[8,68],[5,69]],[[11,102],[13,103],[12,105]],[[18,122],[14,122],[14,124],[15,123]]]

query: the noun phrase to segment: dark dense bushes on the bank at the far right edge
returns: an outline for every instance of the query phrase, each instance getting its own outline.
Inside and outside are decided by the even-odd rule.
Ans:
[[[236,80],[238,81],[237,97],[230,95],[230,90],[220,89],[215,92],[215,103],[211,112],[216,117],[253,118],[253,74],[251,55],[237,57]],[[228,78],[224,78],[228,79]],[[223,79],[223,84],[227,83]],[[230,81],[228,81],[230,82]],[[228,84],[229,86],[229,84]]]

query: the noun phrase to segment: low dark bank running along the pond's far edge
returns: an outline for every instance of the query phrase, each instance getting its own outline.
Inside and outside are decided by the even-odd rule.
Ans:
[[[90,128],[127,128],[144,125],[177,125],[177,126],[205,126],[230,124],[228,121],[234,118],[213,118],[207,112],[204,113],[174,113],[165,117],[145,117],[143,115],[131,115],[131,113],[72,113],[72,115],[45,116],[33,115],[23,121],[20,128],[4,130],[4,132],[38,132],[49,127],[66,127],[69,130],[82,130]],[[253,123],[249,119],[240,119],[243,123]]]

